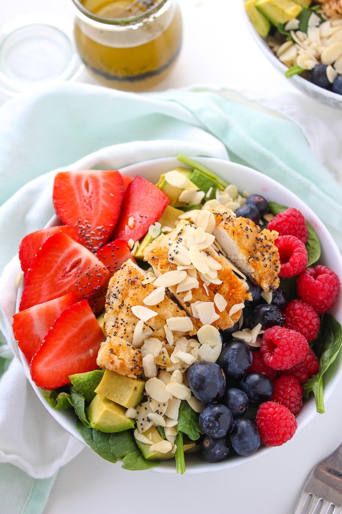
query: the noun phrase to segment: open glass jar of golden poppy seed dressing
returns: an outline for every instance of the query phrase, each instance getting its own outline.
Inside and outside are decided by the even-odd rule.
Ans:
[[[106,85],[146,90],[171,71],[182,46],[176,0],[72,0],[74,37],[87,68]]]

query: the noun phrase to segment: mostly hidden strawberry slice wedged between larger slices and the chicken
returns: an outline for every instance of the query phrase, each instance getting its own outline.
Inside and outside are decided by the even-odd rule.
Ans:
[[[114,271],[119,269],[122,263],[127,261],[127,259],[132,259],[133,261],[135,261],[135,259],[131,253],[130,247],[122,239],[116,239],[111,243],[107,243],[96,252],[96,256],[106,266],[109,273],[105,284],[99,290],[98,294],[89,300],[93,313],[95,316],[98,316],[105,308],[108,283]]]

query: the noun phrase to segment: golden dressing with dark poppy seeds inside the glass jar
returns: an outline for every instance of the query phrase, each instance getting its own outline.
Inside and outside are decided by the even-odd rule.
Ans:
[[[127,17],[132,0],[84,0],[88,10],[102,17]],[[146,30],[142,24],[138,30]],[[109,86],[126,90],[143,90],[163,80],[171,71],[182,45],[182,18],[175,6],[173,18],[158,29],[156,37],[136,46],[113,47],[98,43],[86,35],[77,20],[74,36],[79,55],[85,65]]]

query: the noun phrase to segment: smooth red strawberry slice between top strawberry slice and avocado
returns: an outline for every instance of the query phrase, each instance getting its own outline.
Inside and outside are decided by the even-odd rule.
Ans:
[[[129,183],[119,221],[113,232],[113,239],[137,241],[145,235],[150,227],[163,214],[169,204],[169,198],[139,175]]]

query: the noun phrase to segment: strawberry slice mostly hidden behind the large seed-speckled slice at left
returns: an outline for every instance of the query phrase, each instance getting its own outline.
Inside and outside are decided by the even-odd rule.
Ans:
[[[41,230],[31,232],[23,237],[22,242],[19,245],[19,261],[24,273],[28,270],[39,248],[41,248],[50,235],[56,232],[64,232],[73,239],[76,239],[77,237],[75,229],[68,227],[67,225],[43,228]]]

